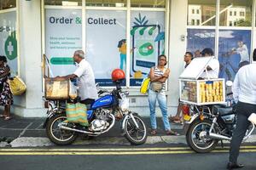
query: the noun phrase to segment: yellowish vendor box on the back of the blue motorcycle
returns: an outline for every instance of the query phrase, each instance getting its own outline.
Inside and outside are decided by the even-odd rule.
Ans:
[[[45,99],[75,99],[77,90],[70,80],[44,78],[44,97]]]

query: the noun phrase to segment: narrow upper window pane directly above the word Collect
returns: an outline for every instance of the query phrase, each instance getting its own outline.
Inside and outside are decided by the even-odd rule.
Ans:
[[[126,7],[127,0],[86,0],[86,6],[97,7]]]

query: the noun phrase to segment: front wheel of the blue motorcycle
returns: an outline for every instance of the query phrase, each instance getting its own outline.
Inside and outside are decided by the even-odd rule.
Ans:
[[[136,127],[131,116],[125,120],[125,138],[131,144],[144,144],[147,140],[148,133],[145,123],[141,116],[133,115],[138,127]]]

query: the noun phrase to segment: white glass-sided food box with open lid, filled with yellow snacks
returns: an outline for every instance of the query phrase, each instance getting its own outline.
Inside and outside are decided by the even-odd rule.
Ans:
[[[225,104],[223,78],[199,80],[206,71],[212,57],[195,58],[179,77],[180,101],[190,105]]]

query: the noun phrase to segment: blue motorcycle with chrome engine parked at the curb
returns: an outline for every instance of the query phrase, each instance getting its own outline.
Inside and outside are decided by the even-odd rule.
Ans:
[[[55,144],[72,144],[79,133],[88,136],[98,136],[107,133],[116,120],[122,121],[121,128],[125,138],[131,144],[144,144],[147,139],[147,129],[141,116],[129,111],[128,93],[122,92],[120,83],[112,92],[98,88],[99,99],[87,106],[88,127],[67,122],[67,100],[49,100],[48,117],[44,123],[49,139]]]

